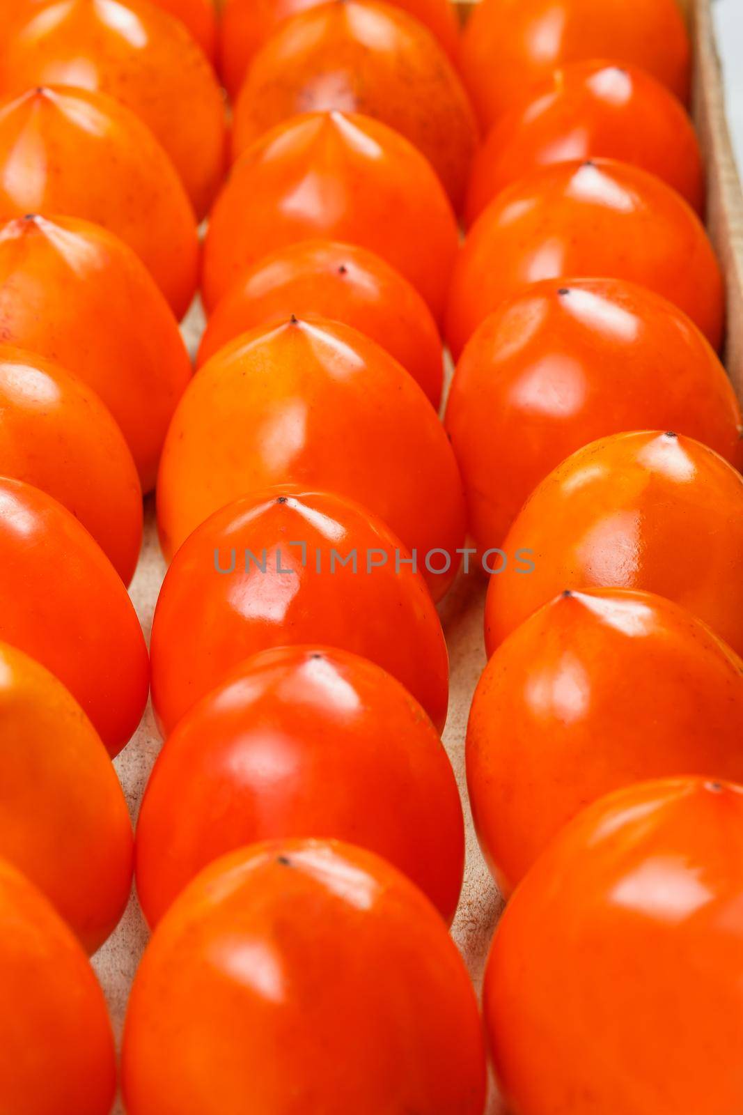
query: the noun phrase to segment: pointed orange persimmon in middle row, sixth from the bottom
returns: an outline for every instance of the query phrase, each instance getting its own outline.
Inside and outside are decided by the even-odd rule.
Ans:
[[[441,321],[458,235],[443,187],[412,144],[369,117],[307,114],[233,167],[206,234],[202,297],[211,311],[264,255],[323,236],[377,252]]]

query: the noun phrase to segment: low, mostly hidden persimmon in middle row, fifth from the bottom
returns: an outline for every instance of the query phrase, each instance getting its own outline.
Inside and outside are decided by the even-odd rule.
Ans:
[[[209,318],[197,363],[241,333],[292,313],[330,318],[371,337],[438,408],[443,351],[431,311],[399,271],[354,244],[305,240],[248,268]]]

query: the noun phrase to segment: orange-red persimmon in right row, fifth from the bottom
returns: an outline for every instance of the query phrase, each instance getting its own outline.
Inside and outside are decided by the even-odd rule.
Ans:
[[[648,287],[720,348],[723,281],[700,219],[655,175],[602,158],[540,167],[504,190],[475,222],[449,294],[454,357],[505,298],[565,275]]]

